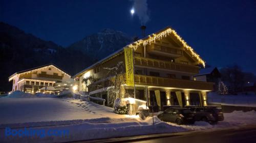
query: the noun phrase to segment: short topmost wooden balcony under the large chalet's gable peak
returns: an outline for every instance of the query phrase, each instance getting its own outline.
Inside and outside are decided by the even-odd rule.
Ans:
[[[174,58],[178,58],[183,55],[183,50],[177,48],[171,48],[167,46],[162,46],[158,44],[152,44],[150,49],[148,49],[150,53],[157,53],[163,55],[170,55]]]

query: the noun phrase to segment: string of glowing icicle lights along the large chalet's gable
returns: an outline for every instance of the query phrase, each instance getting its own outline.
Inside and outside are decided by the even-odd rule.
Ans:
[[[145,46],[148,44],[155,43],[156,40],[160,40],[170,34],[174,34],[174,36],[182,43],[183,47],[186,50],[188,50],[191,53],[191,55],[193,57],[195,57],[199,61],[200,64],[203,65],[203,67],[205,67],[205,62],[200,58],[199,54],[197,54],[193,48],[188,46],[187,43],[176,33],[176,31],[172,30],[172,28],[167,28],[165,31],[163,31],[159,34],[149,35],[146,40],[138,40],[130,45],[127,45],[127,47],[134,48],[136,50],[141,45]]]

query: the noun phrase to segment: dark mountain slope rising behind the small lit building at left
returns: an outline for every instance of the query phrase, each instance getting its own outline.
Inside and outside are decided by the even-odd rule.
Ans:
[[[54,63],[74,75],[92,64],[86,53],[63,48],[0,22],[0,91],[10,91],[8,77],[18,71]]]

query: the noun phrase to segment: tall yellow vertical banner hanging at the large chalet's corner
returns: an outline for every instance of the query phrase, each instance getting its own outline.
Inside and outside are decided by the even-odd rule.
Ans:
[[[133,65],[133,48],[124,48],[124,60],[126,69],[126,84],[134,86],[134,65]]]

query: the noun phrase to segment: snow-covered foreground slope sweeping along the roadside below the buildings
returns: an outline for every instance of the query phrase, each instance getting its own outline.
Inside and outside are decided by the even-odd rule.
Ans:
[[[113,108],[72,98],[0,98],[0,142],[63,142],[152,133],[220,129],[256,124],[256,112],[224,113],[225,120],[216,125],[196,122],[194,125],[165,123],[156,117],[141,120],[138,116],[117,115]],[[13,98],[15,97],[15,98]],[[26,97],[31,97],[27,95]],[[45,96],[40,96],[45,97]],[[47,96],[46,96],[47,97]],[[67,136],[6,137],[6,127],[35,130],[68,130]]]

